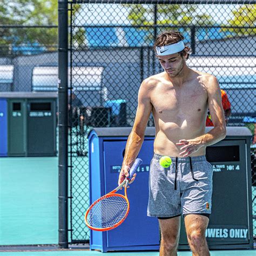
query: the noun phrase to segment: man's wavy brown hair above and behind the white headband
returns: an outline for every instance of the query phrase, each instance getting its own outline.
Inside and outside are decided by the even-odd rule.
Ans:
[[[157,46],[165,46],[169,44],[176,44],[179,41],[183,40],[184,36],[179,31],[164,31],[161,32],[154,42],[154,51],[156,51]],[[186,56],[186,60],[190,57],[191,49],[188,46],[185,46],[185,49],[178,52],[181,57]]]

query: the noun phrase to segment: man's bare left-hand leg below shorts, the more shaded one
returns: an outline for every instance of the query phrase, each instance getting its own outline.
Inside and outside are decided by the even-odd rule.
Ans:
[[[161,230],[160,256],[177,256],[180,216],[158,221]]]

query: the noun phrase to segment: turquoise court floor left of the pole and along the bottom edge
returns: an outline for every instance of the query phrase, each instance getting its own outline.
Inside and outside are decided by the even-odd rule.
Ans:
[[[58,158],[0,158],[0,245],[58,243]],[[1,255],[100,255],[88,250],[11,249]],[[10,250],[10,247],[9,247]],[[26,250],[26,249],[24,249]],[[159,255],[159,252],[111,252],[107,255]],[[178,255],[192,255],[189,251]],[[211,255],[256,255],[256,251],[212,251]]]

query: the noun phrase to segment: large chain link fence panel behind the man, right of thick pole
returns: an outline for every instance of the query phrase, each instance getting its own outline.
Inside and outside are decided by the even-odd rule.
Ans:
[[[227,93],[228,125],[254,132],[256,5],[188,2],[71,3],[72,242],[89,240],[81,217],[89,202],[87,134],[91,127],[132,126],[140,83],[163,71],[153,51],[159,32],[183,33],[192,49],[188,66],[215,75]],[[148,125],[154,125],[152,117]]]

